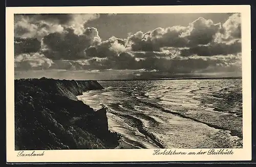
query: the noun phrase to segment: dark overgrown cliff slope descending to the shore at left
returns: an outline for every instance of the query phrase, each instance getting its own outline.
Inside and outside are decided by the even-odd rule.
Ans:
[[[112,149],[119,135],[108,128],[104,108],[76,96],[103,89],[97,81],[15,80],[15,150]]]

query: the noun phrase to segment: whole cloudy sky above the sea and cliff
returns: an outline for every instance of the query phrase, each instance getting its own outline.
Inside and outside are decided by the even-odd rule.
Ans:
[[[241,76],[241,16],[15,14],[15,78]]]

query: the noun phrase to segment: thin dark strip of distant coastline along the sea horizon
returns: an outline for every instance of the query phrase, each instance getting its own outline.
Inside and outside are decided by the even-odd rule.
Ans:
[[[187,77],[187,78],[118,79],[118,80],[97,80],[97,81],[224,80],[224,79],[242,79],[242,77]]]

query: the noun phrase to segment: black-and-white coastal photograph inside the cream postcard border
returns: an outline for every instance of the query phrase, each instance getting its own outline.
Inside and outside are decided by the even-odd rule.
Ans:
[[[17,156],[243,149],[240,12],[15,13],[13,24]]]

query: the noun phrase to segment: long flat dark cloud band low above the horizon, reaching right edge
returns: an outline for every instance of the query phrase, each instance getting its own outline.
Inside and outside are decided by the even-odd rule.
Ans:
[[[144,53],[151,54],[151,52]],[[91,58],[88,60],[55,60],[51,68],[67,70],[138,70],[161,71],[162,73],[179,74],[195,73],[196,71],[217,70],[229,68],[230,70],[241,70],[241,54],[222,56],[190,56],[170,58],[164,57],[162,53],[155,53],[155,56],[144,56],[136,60],[136,54],[120,53],[117,57]],[[160,56],[161,55],[161,56]],[[232,67],[232,68],[231,68]]]

